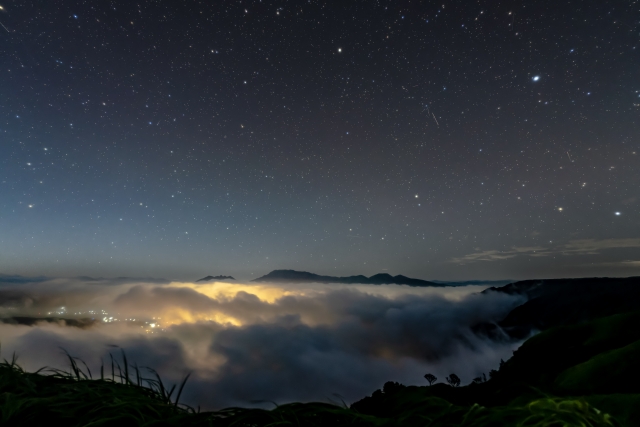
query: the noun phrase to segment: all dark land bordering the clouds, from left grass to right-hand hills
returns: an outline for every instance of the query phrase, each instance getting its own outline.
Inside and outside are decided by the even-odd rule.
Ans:
[[[270,411],[199,412],[177,403],[181,386],[167,390],[157,376],[143,378],[129,368],[126,359],[104,367],[93,380],[71,358],[69,372],[27,373],[5,361],[0,420],[69,427],[638,426],[639,289],[640,281],[631,278],[520,282],[492,290],[528,298],[501,327],[515,335],[528,328],[542,332],[486,378],[466,386],[444,379],[423,387],[388,382],[351,407],[293,403]],[[484,325],[478,333],[498,327]]]

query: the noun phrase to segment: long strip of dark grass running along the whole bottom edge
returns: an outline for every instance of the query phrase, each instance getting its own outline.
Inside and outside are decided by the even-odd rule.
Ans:
[[[124,355],[123,355],[124,356]],[[618,426],[583,399],[535,398],[497,407],[454,405],[437,396],[404,400],[399,413],[374,416],[328,403],[291,403],[272,410],[200,412],[179,403],[182,387],[166,388],[112,359],[93,379],[69,357],[69,371],[25,372],[15,358],[0,363],[0,425],[93,426]],[[82,362],[80,362],[82,363]],[[415,396],[415,395],[414,395]]]

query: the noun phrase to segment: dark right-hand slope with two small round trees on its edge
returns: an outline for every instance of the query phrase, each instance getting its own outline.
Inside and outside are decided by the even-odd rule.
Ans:
[[[571,411],[581,408],[580,411],[585,411],[583,415],[601,411],[601,415],[612,416],[608,421],[599,421],[604,424],[557,425],[639,426],[638,360],[640,311],[557,326],[535,335],[516,350],[512,358],[501,363],[498,370],[492,371],[489,380],[479,377],[467,386],[457,387],[459,379],[451,374],[446,378],[449,384],[426,387],[389,382],[351,408],[393,419],[419,411],[425,402],[433,399],[462,408],[479,405],[489,411],[506,411],[503,413],[512,415],[517,412],[516,408],[541,405],[549,409],[557,404],[558,408],[573,408]],[[427,381],[435,381],[433,375],[429,375],[425,376]]]

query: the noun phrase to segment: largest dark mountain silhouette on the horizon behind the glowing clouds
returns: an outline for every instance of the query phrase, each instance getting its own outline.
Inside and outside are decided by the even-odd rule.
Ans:
[[[408,285],[408,286],[435,286],[444,287],[446,284],[429,282],[426,280],[412,279],[410,277],[398,275],[392,276],[386,273],[366,276],[320,276],[306,271],[295,270],[273,270],[271,273],[258,277],[252,282],[271,283],[342,283],[342,284],[365,284],[365,285]]]

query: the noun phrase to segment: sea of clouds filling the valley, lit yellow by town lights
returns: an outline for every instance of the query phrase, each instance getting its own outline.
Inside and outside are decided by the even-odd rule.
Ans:
[[[523,300],[483,289],[0,276],[1,318],[95,319],[0,323],[0,345],[28,370],[68,368],[64,349],[94,376],[124,350],[167,384],[191,373],[181,400],[203,409],[350,404],[386,381],[426,385],[431,372],[464,384],[508,359],[520,343],[471,328]]]

